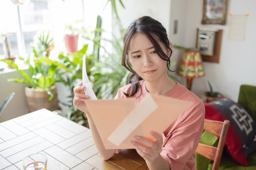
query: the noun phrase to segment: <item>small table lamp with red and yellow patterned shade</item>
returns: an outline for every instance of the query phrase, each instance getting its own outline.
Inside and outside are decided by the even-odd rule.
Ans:
[[[198,49],[185,50],[178,69],[178,75],[187,78],[187,88],[191,89],[192,80],[204,76],[202,56]]]

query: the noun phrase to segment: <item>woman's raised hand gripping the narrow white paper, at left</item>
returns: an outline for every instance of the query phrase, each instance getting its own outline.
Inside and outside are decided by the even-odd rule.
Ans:
[[[77,109],[79,109],[80,111],[82,111],[82,112],[86,113],[86,115],[88,115],[89,111],[84,103],[84,100],[88,100],[89,96],[86,95],[86,93],[83,91],[84,86],[82,86],[82,84],[83,84],[82,82],[79,83],[73,89],[74,94],[75,94],[75,97],[73,99],[73,105],[74,105],[74,107],[76,107]]]

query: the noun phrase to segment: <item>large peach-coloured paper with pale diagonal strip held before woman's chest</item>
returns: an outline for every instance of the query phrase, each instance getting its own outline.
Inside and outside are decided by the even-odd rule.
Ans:
[[[106,149],[135,148],[135,135],[155,140],[151,131],[162,134],[192,102],[148,94],[137,105],[136,98],[85,100]]]

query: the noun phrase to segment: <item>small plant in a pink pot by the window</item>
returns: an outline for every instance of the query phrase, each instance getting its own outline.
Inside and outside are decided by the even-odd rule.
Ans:
[[[65,25],[64,42],[68,53],[74,53],[77,51],[78,36],[82,30],[81,22],[82,20],[76,20],[71,24],[67,23]]]

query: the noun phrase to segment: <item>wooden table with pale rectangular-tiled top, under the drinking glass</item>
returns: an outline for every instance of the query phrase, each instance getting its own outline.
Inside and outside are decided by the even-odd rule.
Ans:
[[[90,129],[46,109],[0,123],[0,170],[23,170],[33,153],[47,155],[47,170],[148,170],[134,149],[103,160]]]

